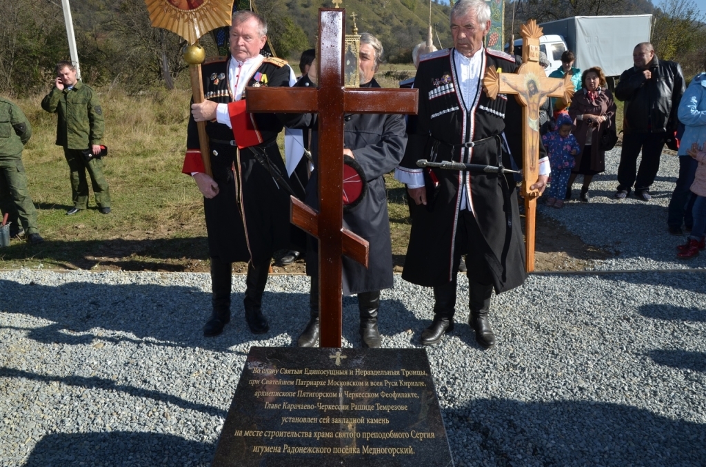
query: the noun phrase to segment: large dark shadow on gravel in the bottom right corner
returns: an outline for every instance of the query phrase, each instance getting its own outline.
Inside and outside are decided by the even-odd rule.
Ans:
[[[447,409],[454,461],[466,466],[697,466],[706,425],[587,401],[477,400]]]

